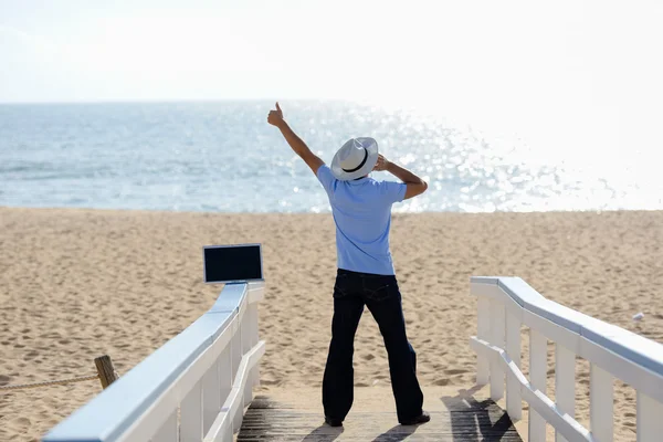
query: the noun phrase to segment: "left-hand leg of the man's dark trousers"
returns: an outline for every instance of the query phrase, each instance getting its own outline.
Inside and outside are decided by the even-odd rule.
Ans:
[[[323,378],[325,417],[340,421],[352,407],[355,333],[364,313],[364,301],[357,295],[355,285],[350,275],[339,275],[336,278],[332,344]]]

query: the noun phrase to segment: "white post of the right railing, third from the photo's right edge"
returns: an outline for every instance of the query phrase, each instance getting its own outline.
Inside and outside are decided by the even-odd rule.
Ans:
[[[555,403],[560,412],[576,418],[576,354],[555,343]],[[556,442],[567,440],[555,431]]]

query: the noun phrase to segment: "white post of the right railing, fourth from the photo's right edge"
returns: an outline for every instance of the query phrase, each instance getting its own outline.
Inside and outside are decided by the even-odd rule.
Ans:
[[[547,396],[548,339],[535,328],[529,329],[529,383]],[[529,442],[546,442],[546,421],[529,407]]]

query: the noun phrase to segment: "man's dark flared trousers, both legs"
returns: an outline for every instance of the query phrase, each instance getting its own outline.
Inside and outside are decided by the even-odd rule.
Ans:
[[[417,355],[406,335],[396,276],[338,270],[334,286],[332,344],[323,378],[325,415],[344,420],[352,407],[355,333],[367,306],[380,327],[399,422],[421,414],[423,393],[417,380]]]

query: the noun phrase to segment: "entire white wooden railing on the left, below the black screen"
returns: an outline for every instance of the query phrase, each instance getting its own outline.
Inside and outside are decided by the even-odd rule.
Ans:
[[[263,283],[227,284],[209,312],[42,441],[232,441],[260,380],[263,290]]]

